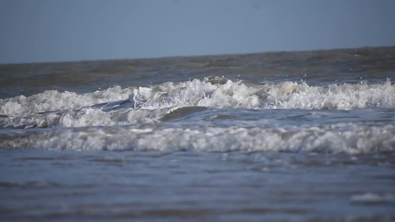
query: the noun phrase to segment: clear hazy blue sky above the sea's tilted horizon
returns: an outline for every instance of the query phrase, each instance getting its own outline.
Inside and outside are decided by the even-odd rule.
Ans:
[[[0,0],[0,63],[395,45],[394,0]]]

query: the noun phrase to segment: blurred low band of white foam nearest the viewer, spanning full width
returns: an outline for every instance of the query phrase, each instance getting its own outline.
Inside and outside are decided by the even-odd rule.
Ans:
[[[129,127],[69,128],[3,136],[0,148],[140,151],[347,152],[395,150],[395,126],[331,124],[279,128]]]

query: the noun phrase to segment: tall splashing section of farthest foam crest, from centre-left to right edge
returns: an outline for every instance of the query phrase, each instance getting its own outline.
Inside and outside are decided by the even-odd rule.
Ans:
[[[248,86],[228,80],[224,85],[195,79],[178,85],[161,85],[134,90],[134,100],[145,108],[210,106],[253,109],[363,109],[394,108],[395,86],[381,84],[344,84],[314,87],[306,83],[283,82]],[[163,96],[167,94],[167,96]]]

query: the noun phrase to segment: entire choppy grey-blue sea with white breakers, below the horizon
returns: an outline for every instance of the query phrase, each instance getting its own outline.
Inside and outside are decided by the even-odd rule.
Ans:
[[[1,221],[395,221],[395,47],[0,65]]]

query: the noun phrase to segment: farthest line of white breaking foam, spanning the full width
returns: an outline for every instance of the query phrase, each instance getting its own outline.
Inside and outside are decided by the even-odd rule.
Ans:
[[[395,107],[395,86],[389,80],[376,84],[343,84],[327,87],[283,82],[250,85],[227,80],[223,85],[194,79],[184,83],[163,83],[152,87],[113,87],[94,93],[45,91],[33,96],[0,100],[4,114],[37,113],[81,108],[129,99],[135,108],[206,106],[253,109],[364,109]]]

